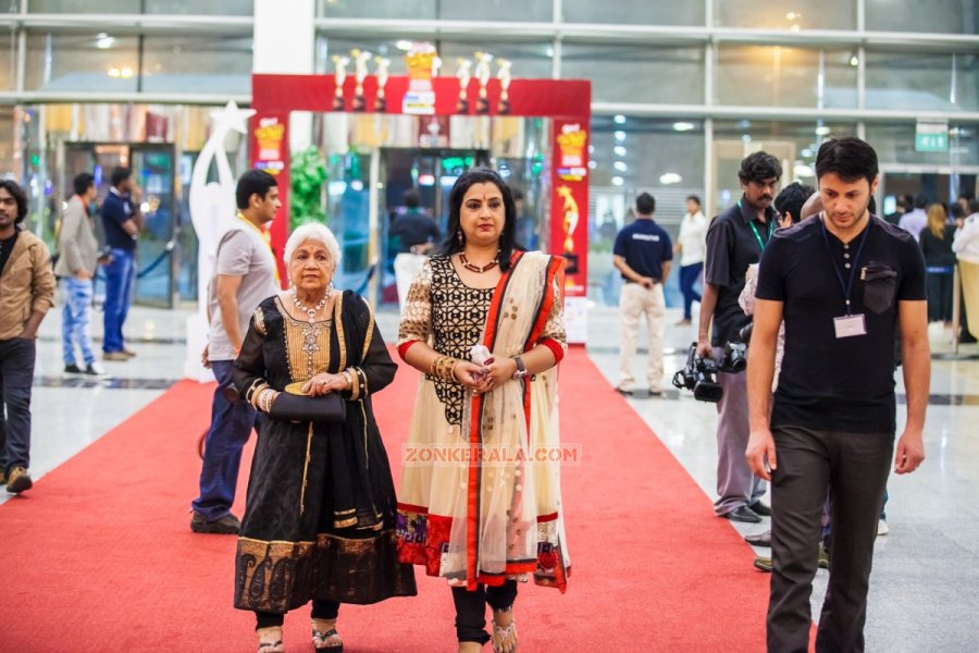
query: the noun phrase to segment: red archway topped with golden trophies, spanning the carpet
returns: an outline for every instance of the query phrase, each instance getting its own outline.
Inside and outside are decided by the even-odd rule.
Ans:
[[[429,79],[426,79],[429,82]],[[358,85],[347,76],[337,93],[334,75],[252,75],[251,158],[256,168],[277,174],[283,206],[288,207],[288,116],[292,111],[347,111],[447,115],[515,115],[554,119],[550,242],[548,250],[568,261],[568,297],[587,294],[588,128],[591,82],[581,79],[498,78],[466,88],[457,77],[432,77],[424,88],[407,76],[387,77],[379,94],[377,77]],[[463,93],[464,90],[464,93]],[[272,223],[272,244],[282,251],[288,237],[285,210]],[[286,279],[282,270],[282,279]]]

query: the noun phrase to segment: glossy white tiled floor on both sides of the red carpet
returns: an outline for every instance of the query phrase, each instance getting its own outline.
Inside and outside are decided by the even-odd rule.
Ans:
[[[33,398],[32,473],[37,480],[133,415],[183,377],[186,311],[135,308],[126,330],[137,357],[106,362],[103,380],[62,374],[60,316],[52,311],[41,326]],[[686,358],[694,326],[673,326],[667,315],[666,377]],[[92,320],[101,331],[101,316]],[[377,315],[391,343],[397,315]],[[608,379],[595,395],[614,392],[619,369],[618,319],[614,309],[590,316],[588,354]],[[931,402],[926,427],[928,459],[907,477],[892,477],[887,506],[890,534],[878,539],[867,620],[870,651],[964,651],[974,649],[979,620],[979,346],[951,356],[947,333],[932,331]],[[640,342],[645,342],[643,335]],[[639,358],[644,359],[641,353]],[[641,371],[641,361],[635,361]],[[642,374],[639,374],[642,377]],[[665,385],[668,384],[668,381]],[[903,397],[903,383],[897,375]],[[567,398],[566,398],[567,401]],[[629,404],[669,447],[703,491],[715,497],[717,416],[714,406],[695,402],[686,391],[668,390],[650,397],[639,389]],[[899,408],[899,429],[903,421]],[[650,435],[652,436],[652,435]],[[587,452],[584,452],[585,464]],[[641,465],[642,461],[636,461]],[[655,473],[656,470],[649,470]],[[44,484],[34,490],[44,491]],[[193,497],[187,497],[188,504]],[[0,503],[8,501],[0,492]],[[656,497],[648,497],[655,507]],[[767,523],[731,525],[743,533]],[[745,544],[747,546],[747,544]],[[767,554],[767,550],[759,549]],[[676,556],[682,564],[684,552]],[[828,572],[817,575],[813,604],[818,615]],[[764,615],[746,616],[764,619]]]

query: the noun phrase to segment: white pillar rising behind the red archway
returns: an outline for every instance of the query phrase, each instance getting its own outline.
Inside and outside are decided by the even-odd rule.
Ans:
[[[256,73],[309,75],[315,63],[315,0],[255,0],[251,70]],[[312,144],[312,114],[289,121],[290,151]]]

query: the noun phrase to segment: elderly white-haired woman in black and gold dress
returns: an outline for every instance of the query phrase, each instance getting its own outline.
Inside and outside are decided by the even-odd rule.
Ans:
[[[313,645],[338,653],[340,603],[417,593],[397,558],[394,484],[371,407],[397,367],[364,300],[333,289],[339,247],[329,229],[297,229],[285,260],[293,287],[259,305],[235,361],[235,384],[260,411],[235,607],[256,613],[259,653],[280,653],[285,613],[312,601]],[[309,414],[276,417],[295,401]],[[331,402],[345,407],[342,421],[323,415]]]

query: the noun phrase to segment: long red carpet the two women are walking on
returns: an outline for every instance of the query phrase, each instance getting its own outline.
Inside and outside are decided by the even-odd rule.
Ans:
[[[402,368],[375,404],[396,476],[416,380]],[[178,383],[0,505],[7,650],[255,650],[251,615],[231,607],[234,538],[188,528],[211,387]],[[581,349],[561,397],[563,441],[583,452],[563,471],[573,572],[565,595],[521,586],[520,650],[764,650],[768,576],[747,545]],[[416,599],[344,606],[345,650],[455,651],[448,589],[418,579]],[[311,650],[305,611],[285,642]]]

